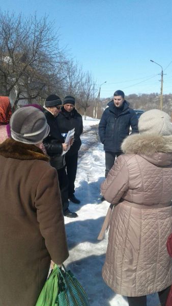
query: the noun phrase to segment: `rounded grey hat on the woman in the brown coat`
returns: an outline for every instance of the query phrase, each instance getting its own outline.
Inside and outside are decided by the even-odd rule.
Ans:
[[[14,140],[28,144],[42,142],[49,134],[44,113],[32,106],[15,111],[10,119],[10,127]]]

